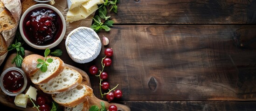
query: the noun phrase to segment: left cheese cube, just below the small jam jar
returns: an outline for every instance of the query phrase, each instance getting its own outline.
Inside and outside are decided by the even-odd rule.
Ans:
[[[16,106],[26,108],[27,103],[28,103],[28,95],[21,93],[21,94],[15,96],[14,104]]]

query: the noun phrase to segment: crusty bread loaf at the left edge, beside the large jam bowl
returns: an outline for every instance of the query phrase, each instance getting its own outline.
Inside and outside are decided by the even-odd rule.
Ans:
[[[14,40],[20,17],[20,0],[0,0],[0,65],[6,58],[7,48]]]

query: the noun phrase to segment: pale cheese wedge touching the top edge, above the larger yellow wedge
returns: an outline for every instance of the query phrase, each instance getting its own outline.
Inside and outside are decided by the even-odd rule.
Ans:
[[[103,0],[88,0],[87,2],[84,2],[82,6],[86,10],[86,12],[91,12],[93,9],[93,6],[97,6],[97,4],[103,4]]]

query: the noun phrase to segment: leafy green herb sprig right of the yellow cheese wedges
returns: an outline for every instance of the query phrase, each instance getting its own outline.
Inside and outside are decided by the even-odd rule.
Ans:
[[[98,32],[102,29],[105,31],[110,31],[111,28],[114,24],[113,20],[110,20],[111,16],[107,16],[107,7],[111,7],[110,11],[112,10],[113,12],[117,13],[118,11],[118,6],[117,3],[119,0],[105,0],[104,4],[101,5],[98,9],[99,15],[96,15],[93,18],[94,23],[90,26],[91,29],[94,31]]]

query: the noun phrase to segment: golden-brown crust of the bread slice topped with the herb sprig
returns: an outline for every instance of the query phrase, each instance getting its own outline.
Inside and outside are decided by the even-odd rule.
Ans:
[[[58,76],[64,69],[64,62],[59,58],[59,57],[55,57],[55,56],[47,56],[46,59],[48,57],[51,57],[51,58],[55,58],[57,60],[60,61],[60,65],[58,67],[58,69],[55,70],[54,73],[52,73],[50,76],[48,76],[47,78],[45,78],[44,80],[42,80],[41,82],[36,82],[34,84],[37,84],[37,85],[40,85],[40,84],[43,84],[43,83],[47,83],[48,81],[50,81],[51,79],[55,78],[56,76]]]

